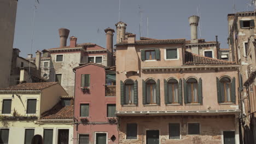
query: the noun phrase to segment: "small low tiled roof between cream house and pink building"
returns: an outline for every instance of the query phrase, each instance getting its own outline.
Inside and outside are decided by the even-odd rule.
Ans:
[[[41,119],[71,119],[74,115],[74,105],[62,106],[61,101],[53,108],[44,112]]]

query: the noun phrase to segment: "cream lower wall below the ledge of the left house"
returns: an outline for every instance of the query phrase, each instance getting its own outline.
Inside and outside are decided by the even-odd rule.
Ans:
[[[34,134],[44,135],[44,129],[53,129],[53,143],[57,143],[58,129],[69,129],[69,144],[73,144],[73,124],[39,124],[36,121],[10,121],[3,124],[1,128],[9,129],[9,144],[24,143],[25,129],[34,129]]]

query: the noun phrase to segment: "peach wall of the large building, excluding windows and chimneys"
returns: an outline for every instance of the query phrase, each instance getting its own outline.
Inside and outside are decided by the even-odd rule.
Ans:
[[[234,131],[235,143],[240,143],[238,90],[234,88],[234,100],[229,103],[218,103],[217,96],[217,78],[229,77],[238,86],[238,65],[194,54],[193,56],[201,58],[194,60],[195,63],[203,61],[202,64],[188,64],[184,39],[136,41],[135,34],[131,34],[127,41],[116,46],[119,143],[146,144],[148,130],[159,131],[159,143],[224,143],[223,131]],[[159,49],[160,58],[142,60],[141,52],[152,49]],[[176,59],[166,58],[167,49],[177,49]],[[218,63],[207,64],[205,59]],[[166,104],[164,79],[181,80],[181,90],[184,92],[183,84],[191,77],[202,82],[202,102],[185,103],[183,93],[181,103]],[[156,83],[159,81],[159,104],[144,103],[143,81],[147,82],[149,79]],[[122,104],[121,97],[124,97],[122,93],[125,87],[121,86],[125,86],[127,80],[137,81],[137,104]],[[200,123],[200,134],[189,135],[188,123],[195,122]],[[137,124],[137,139],[127,139],[126,124],[129,123]],[[169,123],[180,124],[180,139],[169,139]]]

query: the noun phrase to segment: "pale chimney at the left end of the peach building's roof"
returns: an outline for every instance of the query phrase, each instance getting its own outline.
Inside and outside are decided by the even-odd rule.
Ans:
[[[115,24],[117,28],[117,44],[125,40],[126,23],[119,21]]]

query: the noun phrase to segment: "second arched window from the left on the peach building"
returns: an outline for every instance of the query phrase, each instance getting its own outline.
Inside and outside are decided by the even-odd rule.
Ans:
[[[156,104],[156,83],[152,79],[146,81],[146,96],[147,104]]]

